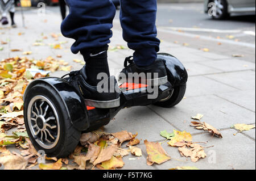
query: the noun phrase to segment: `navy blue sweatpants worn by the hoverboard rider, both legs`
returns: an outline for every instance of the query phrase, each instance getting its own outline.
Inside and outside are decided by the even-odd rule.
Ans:
[[[70,13],[61,24],[65,37],[75,39],[73,53],[104,47],[112,37],[115,6],[110,0],[66,0]],[[156,0],[120,0],[123,39],[135,52],[139,66],[152,64],[159,51],[156,38]]]

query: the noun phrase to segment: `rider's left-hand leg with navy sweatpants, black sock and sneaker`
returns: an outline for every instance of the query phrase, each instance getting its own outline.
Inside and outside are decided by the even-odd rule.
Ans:
[[[114,77],[109,77],[107,50],[112,37],[115,6],[109,0],[67,0],[70,13],[61,24],[61,32],[65,37],[75,39],[71,50],[84,56],[86,65],[79,71],[69,73],[66,80],[76,87],[85,98],[87,106],[98,108],[118,107],[119,93],[111,91],[116,84]],[[97,75],[108,75],[98,80]],[[100,77],[102,78],[102,77]],[[114,79],[114,81],[113,81]],[[96,87],[104,82],[104,90]],[[105,89],[108,85],[108,89]]]

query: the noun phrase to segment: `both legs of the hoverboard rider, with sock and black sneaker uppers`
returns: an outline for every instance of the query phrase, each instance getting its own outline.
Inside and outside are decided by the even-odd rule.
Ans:
[[[76,40],[71,50],[73,53],[80,52],[86,62],[85,68],[71,73],[73,78],[69,79],[69,82],[76,82],[74,85],[81,92],[83,88],[88,90],[89,85],[97,86],[100,82],[97,80],[99,73],[103,72],[109,76],[107,50],[112,37],[111,28],[116,10],[110,0],[66,0],[66,2],[70,13],[61,24],[61,32],[65,37]],[[123,39],[127,41],[128,47],[134,50],[133,60],[126,58],[126,68],[122,72],[125,74],[156,72],[162,74],[160,77],[167,79],[163,62],[156,61],[160,44],[159,39],[156,38],[156,0],[120,0],[120,2]],[[127,62],[130,63],[129,66]],[[80,80],[74,78],[79,75],[81,75]],[[85,83],[88,85],[85,86]],[[104,97],[100,94],[97,96],[100,97],[98,99],[111,97],[110,94]]]

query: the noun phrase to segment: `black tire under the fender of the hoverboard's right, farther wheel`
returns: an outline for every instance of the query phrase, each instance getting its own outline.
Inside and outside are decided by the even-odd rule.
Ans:
[[[186,85],[174,87],[174,92],[172,93],[172,96],[170,99],[164,102],[157,102],[154,105],[159,107],[166,107],[166,108],[171,108],[176,106],[184,98],[186,88],[187,88]]]

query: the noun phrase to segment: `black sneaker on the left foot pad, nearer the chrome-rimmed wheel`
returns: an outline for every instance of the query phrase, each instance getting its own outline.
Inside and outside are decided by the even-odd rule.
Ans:
[[[120,97],[117,81],[114,76],[108,78],[108,81],[104,82],[104,85],[108,85],[106,90],[103,91],[104,86],[90,86],[86,80],[86,65],[81,70],[71,71],[67,74],[69,77],[64,78],[68,81],[80,95],[84,97],[86,106],[92,106],[96,108],[114,108],[120,106]],[[101,92],[99,92],[101,91]]]

